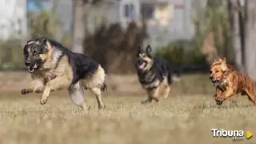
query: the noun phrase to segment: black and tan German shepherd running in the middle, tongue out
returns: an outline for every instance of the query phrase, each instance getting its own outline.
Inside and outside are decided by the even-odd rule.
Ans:
[[[148,99],[142,103],[150,103],[153,99],[158,102],[160,92],[163,92],[164,99],[167,99],[170,93],[170,85],[174,78],[174,68],[171,64],[160,57],[152,57],[151,47],[148,45],[146,50],[138,47],[138,62],[135,64],[138,73],[138,80],[142,88],[146,90]],[[176,80],[180,80],[180,74],[177,72]]]

